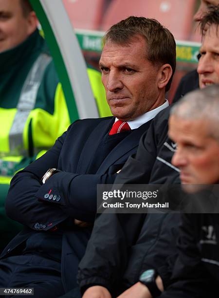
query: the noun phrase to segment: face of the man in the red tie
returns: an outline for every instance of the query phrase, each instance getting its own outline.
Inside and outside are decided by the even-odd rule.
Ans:
[[[161,104],[159,68],[146,59],[143,37],[135,38],[129,45],[108,41],[99,64],[107,102],[120,120],[132,120]]]

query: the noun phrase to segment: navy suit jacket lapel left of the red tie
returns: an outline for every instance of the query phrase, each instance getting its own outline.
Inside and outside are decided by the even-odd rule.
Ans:
[[[112,117],[111,119],[105,119],[100,121],[99,124],[93,129],[81,152],[80,160],[77,166],[78,173],[84,173],[89,168],[91,160],[96,157],[95,153],[97,147],[99,146],[100,142],[102,142],[104,136],[110,131],[114,121],[115,117]]]

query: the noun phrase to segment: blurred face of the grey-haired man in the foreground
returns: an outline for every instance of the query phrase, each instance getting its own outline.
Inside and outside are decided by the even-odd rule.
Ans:
[[[170,116],[168,135],[177,150],[172,164],[180,168],[182,184],[214,184],[219,181],[219,142],[209,135],[203,120]]]

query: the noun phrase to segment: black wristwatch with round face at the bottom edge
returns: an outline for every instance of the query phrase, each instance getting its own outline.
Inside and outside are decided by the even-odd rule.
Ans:
[[[153,298],[160,296],[162,293],[156,284],[157,276],[158,273],[156,270],[149,269],[143,272],[139,278],[139,281],[146,285]]]

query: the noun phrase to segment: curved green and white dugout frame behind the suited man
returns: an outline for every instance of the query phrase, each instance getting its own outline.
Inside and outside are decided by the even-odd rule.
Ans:
[[[63,86],[71,122],[99,116],[84,57],[61,0],[30,0]]]

